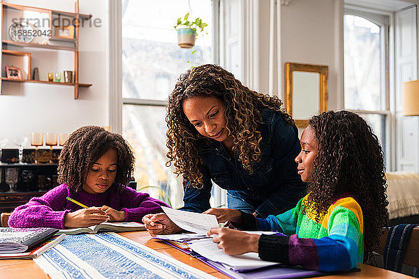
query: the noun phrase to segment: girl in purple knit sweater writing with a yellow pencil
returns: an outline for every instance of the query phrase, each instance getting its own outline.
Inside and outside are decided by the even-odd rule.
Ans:
[[[126,187],[134,156],[121,135],[98,126],[84,126],[69,137],[59,156],[60,186],[19,206],[10,227],[89,227],[105,221],[140,222],[167,206],[146,193]],[[66,199],[89,206],[83,209]]]

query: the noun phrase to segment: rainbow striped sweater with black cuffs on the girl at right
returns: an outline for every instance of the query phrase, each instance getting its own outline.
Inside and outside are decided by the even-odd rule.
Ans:
[[[307,196],[300,199],[295,208],[278,216],[256,218],[253,229],[286,234],[260,236],[259,257],[325,272],[347,271],[354,269],[358,262],[362,263],[363,218],[358,202],[353,197],[337,199],[320,223],[316,223],[310,208],[304,211],[306,200]],[[244,224],[255,224],[253,216],[243,213],[243,217]]]

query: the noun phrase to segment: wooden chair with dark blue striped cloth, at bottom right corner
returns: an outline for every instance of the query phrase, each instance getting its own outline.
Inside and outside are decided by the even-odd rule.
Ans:
[[[419,276],[419,226],[401,224],[387,229],[381,236],[378,250],[383,256],[383,268],[391,271],[405,273],[403,264],[413,267],[408,271],[413,276]]]

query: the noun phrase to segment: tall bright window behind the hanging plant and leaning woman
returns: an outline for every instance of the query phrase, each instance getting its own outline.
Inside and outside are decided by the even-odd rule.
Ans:
[[[208,24],[193,49],[177,45],[175,22],[186,13]],[[122,134],[135,152],[138,190],[182,204],[182,181],[166,167],[166,105],[179,75],[212,63],[212,1],[122,1]]]

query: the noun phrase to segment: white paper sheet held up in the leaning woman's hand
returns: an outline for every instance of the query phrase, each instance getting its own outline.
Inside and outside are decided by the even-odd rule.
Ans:
[[[190,232],[207,234],[212,227],[219,227],[215,215],[212,214],[170,209],[166,206],[161,206],[161,209],[173,223]]]

